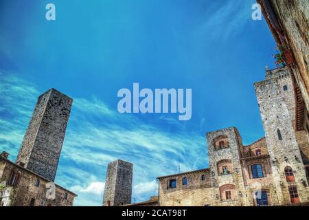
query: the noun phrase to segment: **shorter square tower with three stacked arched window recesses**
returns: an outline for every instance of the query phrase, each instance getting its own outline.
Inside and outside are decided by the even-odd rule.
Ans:
[[[235,127],[207,132],[209,155],[211,206],[249,206],[244,188],[240,148],[242,138]],[[225,191],[231,192],[229,202]]]

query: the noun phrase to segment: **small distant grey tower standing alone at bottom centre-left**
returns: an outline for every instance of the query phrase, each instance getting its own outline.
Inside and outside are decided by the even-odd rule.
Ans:
[[[103,206],[131,203],[133,164],[117,159],[108,164]]]

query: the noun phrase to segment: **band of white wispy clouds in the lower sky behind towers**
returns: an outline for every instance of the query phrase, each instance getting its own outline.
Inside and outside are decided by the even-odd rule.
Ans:
[[[36,86],[12,75],[0,75],[0,143],[15,157],[38,95]],[[5,94],[5,96],[4,96]],[[27,97],[27,98],[25,98]],[[205,137],[187,133],[182,125],[161,118],[159,124],[179,126],[170,132],[158,121],[122,115],[103,100],[74,99],[62,146],[56,183],[76,191],[76,206],[101,206],[107,164],[132,162],[136,202],[157,193],[156,177],[207,166]],[[16,103],[18,100],[18,103]]]

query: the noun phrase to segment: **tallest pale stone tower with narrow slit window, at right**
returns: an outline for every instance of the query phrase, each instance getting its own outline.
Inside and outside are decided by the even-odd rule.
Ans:
[[[308,181],[295,135],[295,90],[288,69],[266,70],[266,80],[255,83],[271,169],[280,204],[307,202]],[[293,181],[286,170],[293,172]],[[293,171],[292,171],[293,170]],[[293,198],[290,194],[298,195]]]

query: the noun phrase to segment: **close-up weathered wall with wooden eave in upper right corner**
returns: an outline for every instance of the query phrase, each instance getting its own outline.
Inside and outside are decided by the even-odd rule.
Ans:
[[[297,111],[309,113],[309,2],[257,0],[297,91]]]

